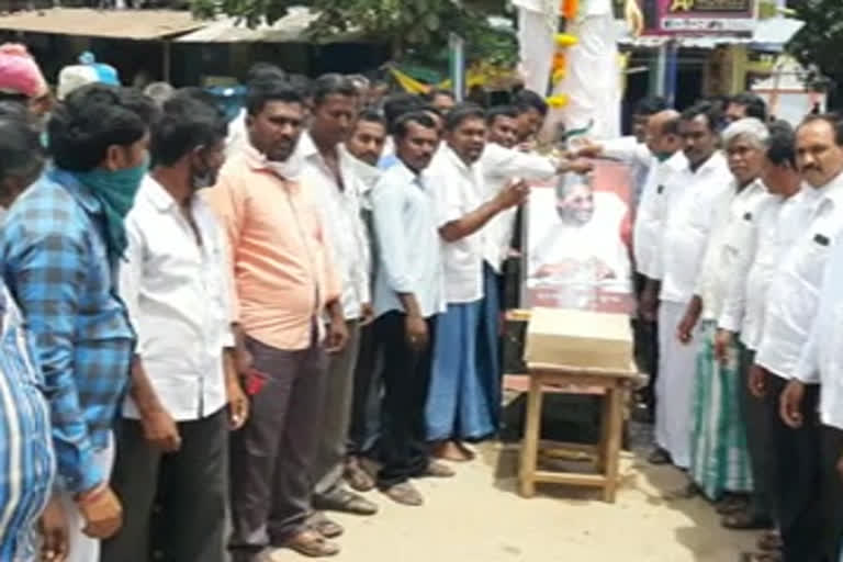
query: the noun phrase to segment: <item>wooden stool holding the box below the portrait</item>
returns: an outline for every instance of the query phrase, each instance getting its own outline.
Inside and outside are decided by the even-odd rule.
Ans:
[[[569,484],[603,488],[605,502],[615,503],[618,487],[618,461],[623,428],[623,400],[638,376],[633,371],[607,371],[581,367],[530,364],[530,390],[527,397],[527,424],[521,441],[521,459],[518,473],[524,497],[536,494],[537,482]],[[538,470],[541,434],[541,405],[544,386],[553,385],[553,392],[564,392],[558,386],[577,385],[603,391],[600,416],[600,442],[596,446],[553,443],[554,449],[578,450],[593,453],[598,474]]]

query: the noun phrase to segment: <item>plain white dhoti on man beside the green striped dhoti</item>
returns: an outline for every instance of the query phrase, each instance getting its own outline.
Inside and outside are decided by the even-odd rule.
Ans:
[[[676,327],[687,303],[662,301],[659,306],[659,379],[655,383],[655,442],[671,453],[673,463],[690,467],[694,429],[694,376],[696,375],[699,327],[689,344],[676,338]]]

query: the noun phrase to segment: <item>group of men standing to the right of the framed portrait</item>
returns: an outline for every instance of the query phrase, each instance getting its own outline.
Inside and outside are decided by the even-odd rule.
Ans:
[[[638,143],[580,155],[644,170],[634,224],[639,356],[655,464],[687,472],[743,561],[838,561],[843,535],[843,121],[796,130],[744,93],[644,105]]]

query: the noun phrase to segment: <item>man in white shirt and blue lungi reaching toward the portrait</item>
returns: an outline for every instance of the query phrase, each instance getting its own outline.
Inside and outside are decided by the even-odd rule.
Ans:
[[[437,175],[439,234],[445,263],[448,310],[439,318],[434,371],[427,403],[427,437],[434,454],[468,460],[464,440],[495,431],[492,379],[479,372],[477,337],[483,307],[484,227],[518,205],[527,194],[524,182],[510,182],[487,198],[479,160],[485,147],[486,122],[474,104],[457,105],[446,120],[446,140],[432,164]]]

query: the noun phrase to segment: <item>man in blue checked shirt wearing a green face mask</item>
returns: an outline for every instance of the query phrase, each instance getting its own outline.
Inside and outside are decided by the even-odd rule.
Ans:
[[[52,389],[70,561],[97,560],[99,539],[122,524],[109,486],[112,424],[135,334],[116,270],[153,120],[150,102],[131,90],[94,85],[70,94],[48,124],[55,167],[10,210],[0,237],[3,278]]]

